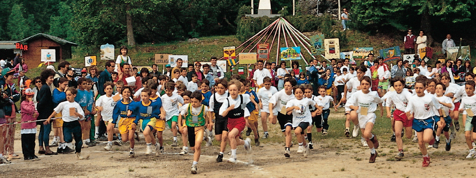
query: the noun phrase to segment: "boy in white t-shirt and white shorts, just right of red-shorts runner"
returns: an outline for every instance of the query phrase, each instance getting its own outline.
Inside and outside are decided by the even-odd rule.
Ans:
[[[258,99],[260,99],[260,112],[261,112],[261,124],[263,126],[263,138],[268,138],[270,134],[268,134],[268,114],[270,114],[269,108],[269,101],[270,98],[274,93],[277,92],[277,89],[271,86],[271,78],[265,77],[263,79],[264,88],[261,88],[257,95]],[[277,116],[277,109],[273,109],[272,116],[275,118]]]

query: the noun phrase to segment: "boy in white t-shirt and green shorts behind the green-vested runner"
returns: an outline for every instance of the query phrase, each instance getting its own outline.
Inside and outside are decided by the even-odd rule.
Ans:
[[[174,140],[172,146],[177,146],[177,122],[179,118],[179,107],[184,103],[184,98],[178,94],[172,93],[175,89],[175,84],[165,84],[165,94],[160,98],[162,99],[162,107],[165,110],[165,122],[169,125],[172,131]]]

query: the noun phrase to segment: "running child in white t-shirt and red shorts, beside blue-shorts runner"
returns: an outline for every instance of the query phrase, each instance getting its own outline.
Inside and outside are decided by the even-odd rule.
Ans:
[[[402,77],[392,78],[390,85],[395,91],[388,91],[384,97],[386,97],[386,109],[387,118],[392,118],[392,112],[390,111],[392,104],[395,105],[395,111],[393,112],[393,120],[395,122],[395,140],[397,142],[397,148],[399,153],[395,156],[395,159],[401,160],[404,157],[402,130],[405,128],[405,135],[407,138],[411,138],[411,124],[412,122],[407,119],[405,109],[407,108],[408,101],[410,100],[411,93],[408,89],[405,89],[405,82]]]

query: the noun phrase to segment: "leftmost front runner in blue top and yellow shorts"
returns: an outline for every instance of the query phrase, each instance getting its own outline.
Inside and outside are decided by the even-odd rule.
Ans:
[[[136,153],[134,152],[134,145],[136,143],[134,136],[137,127],[137,123],[135,122],[136,117],[134,115],[127,116],[129,106],[134,103],[134,101],[131,99],[132,91],[133,89],[131,89],[129,86],[126,86],[122,89],[123,98],[117,102],[116,106],[114,106],[114,112],[112,115],[113,120],[111,122],[112,125],[116,125],[117,123],[122,141],[124,143],[130,141],[129,144],[131,148],[129,151],[129,158],[136,157]]]

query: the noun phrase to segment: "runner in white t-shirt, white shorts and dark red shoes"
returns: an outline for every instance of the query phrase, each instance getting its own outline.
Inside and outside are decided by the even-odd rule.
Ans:
[[[377,118],[374,112],[377,110],[377,104],[382,103],[382,99],[380,99],[377,91],[369,90],[371,85],[370,77],[361,77],[360,90],[352,94],[348,104],[350,109],[357,111],[362,137],[365,138],[370,148],[369,163],[374,163],[377,157],[375,149],[379,147],[377,136],[372,134],[375,119]],[[382,105],[380,106],[381,110],[383,110]]]

